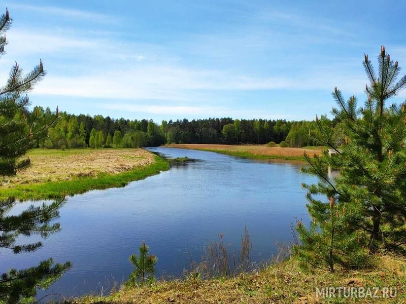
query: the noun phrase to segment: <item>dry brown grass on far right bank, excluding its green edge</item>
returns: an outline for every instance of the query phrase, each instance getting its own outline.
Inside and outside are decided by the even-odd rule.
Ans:
[[[321,155],[320,149],[307,148],[282,148],[282,147],[267,147],[265,144],[252,145],[227,145],[227,144],[170,144],[166,145],[173,148],[194,149],[194,150],[225,150],[235,152],[246,152],[261,156],[282,156],[282,157],[301,157],[303,152],[308,155]]]

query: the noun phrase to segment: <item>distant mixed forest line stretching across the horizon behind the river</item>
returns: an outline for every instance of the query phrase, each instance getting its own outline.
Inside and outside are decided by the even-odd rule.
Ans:
[[[49,108],[35,107],[27,111],[29,120],[47,124],[55,119]],[[158,146],[165,143],[265,144],[301,147],[315,142],[308,136],[315,122],[286,120],[238,120],[209,118],[199,120],[162,121],[112,119],[95,115],[72,115],[59,112],[48,136],[37,142],[43,148],[99,148]]]

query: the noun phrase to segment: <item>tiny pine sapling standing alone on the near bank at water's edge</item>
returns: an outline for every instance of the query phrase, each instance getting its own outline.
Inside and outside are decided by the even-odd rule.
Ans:
[[[125,283],[126,286],[136,286],[139,282],[141,282],[141,285],[144,285],[146,280],[148,280],[148,282],[154,280],[153,275],[155,273],[155,264],[158,259],[153,254],[149,255],[149,247],[145,245],[145,241],[143,241],[139,251],[139,257],[132,254],[129,258],[135,269],[130,274],[128,281]]]

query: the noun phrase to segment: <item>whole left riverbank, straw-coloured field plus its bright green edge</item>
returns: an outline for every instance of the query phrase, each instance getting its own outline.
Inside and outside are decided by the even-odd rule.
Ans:
[[[33,149],[31,166],[1,180],[0,199],[54,199],[128,182],[168,170],[169,164],[144,149]]]

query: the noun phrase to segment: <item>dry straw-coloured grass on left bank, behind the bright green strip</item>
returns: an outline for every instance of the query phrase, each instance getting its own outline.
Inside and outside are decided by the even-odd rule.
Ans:
[[[1,187],[117,174],[154,162],[154,155],[143,149],[35,149],[27,156],[31,166],[4,179]]]

